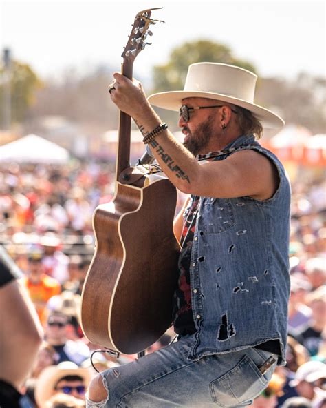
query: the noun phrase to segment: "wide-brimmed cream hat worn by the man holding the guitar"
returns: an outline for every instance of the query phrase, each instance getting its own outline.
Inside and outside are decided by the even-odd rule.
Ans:
[[[280,116],[254,103],[256,81],[256,74],[235,65],[194,63],[189,65],[183,91],[160,92],[148,100],[159,108],[179,110],[185,98],[216,99],[246,108],[264,128],[281,128],[284,121]]]

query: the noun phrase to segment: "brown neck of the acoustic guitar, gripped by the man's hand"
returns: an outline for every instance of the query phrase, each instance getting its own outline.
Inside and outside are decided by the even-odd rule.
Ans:
[[[122,75],[133,78],[133,63],[124,61],[122,63]],[[118,130],[118,156],[116,163],[116,179],[118,181],[123,170],[130,167],[130,137],[131,137],[131,116],[120,111]]]

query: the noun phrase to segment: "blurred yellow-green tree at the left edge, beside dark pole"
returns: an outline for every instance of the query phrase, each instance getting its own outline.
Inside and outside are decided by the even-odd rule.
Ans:
[[[3,114],[5,103],[6,81],[10,81],[11,120],[12,123],[22,122],[26,119],[28,109],[34,103],[34,95],[42,83],[29,65],[12,61],[10,72],[0,68],[0,103]]]

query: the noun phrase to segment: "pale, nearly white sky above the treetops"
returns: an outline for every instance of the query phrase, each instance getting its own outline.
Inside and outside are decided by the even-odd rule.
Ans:
[[[324,1],[77,1],[0,0],[0,45],[41,76],[81,72],[98,64],[120,70],[122,47],[139,10],[153,17],[153,45],[135,61],[149,77],[184,41],[210,39],[251,61],[262,76],[325,75]]]

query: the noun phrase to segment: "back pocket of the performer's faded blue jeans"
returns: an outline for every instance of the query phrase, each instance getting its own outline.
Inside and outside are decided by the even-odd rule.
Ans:
[[[267,383],[268,380],[246,354],[227,374],[210,383],[210,394],[219,407],[241,407],[248,405]]]

